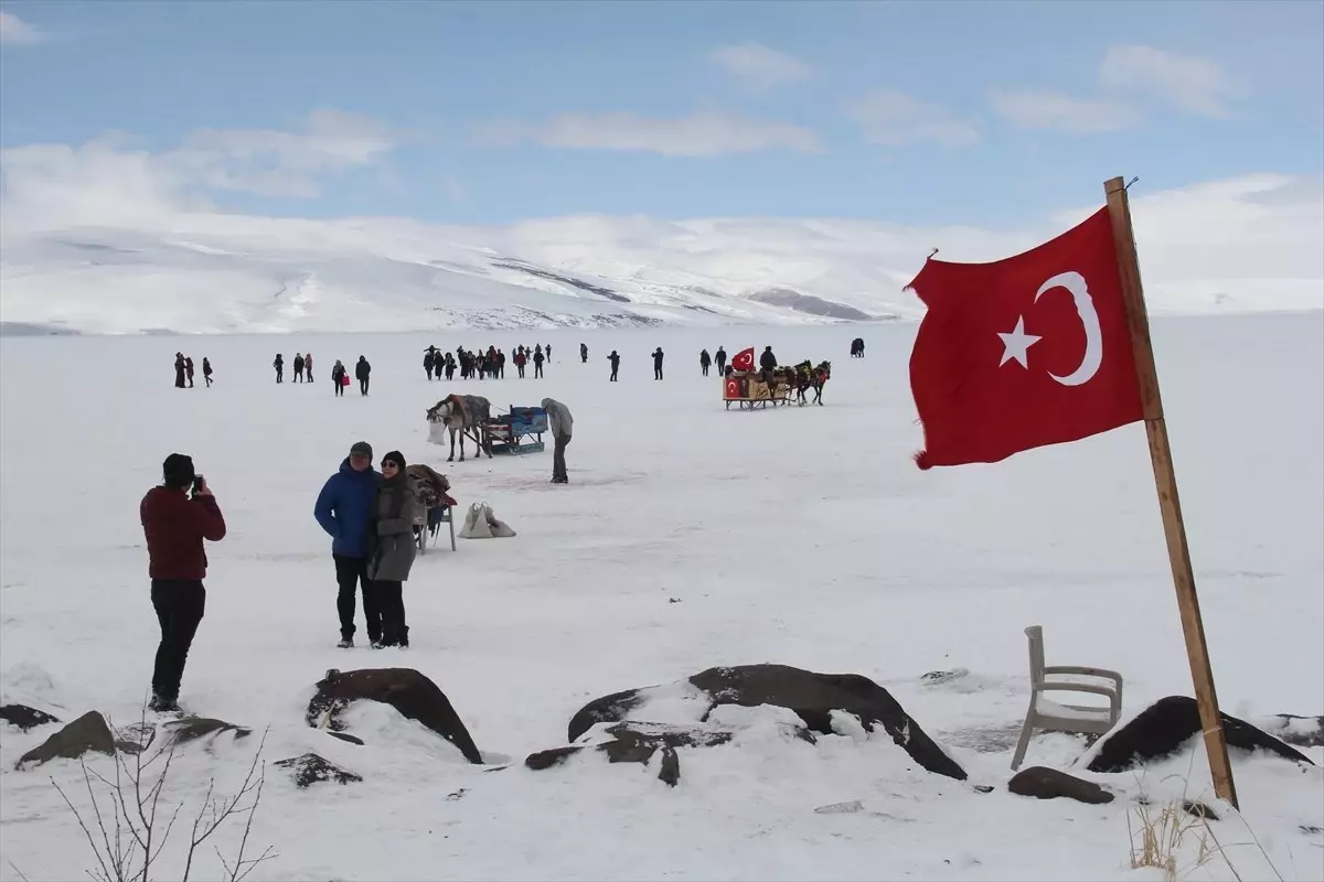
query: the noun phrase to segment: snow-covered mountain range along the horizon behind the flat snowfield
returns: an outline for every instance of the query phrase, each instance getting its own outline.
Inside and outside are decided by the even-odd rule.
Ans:
[[[1152,312],[1324,307],[1316,190],[1250,176],[1132,206]],[[1001,233],[597,216],[457,227],[131,206],[90,225],[9,204],[0,323],[7,333],[281,333],[912,319],[923,305],[903,288],[935,247],[994,261],[1094,208]]]

